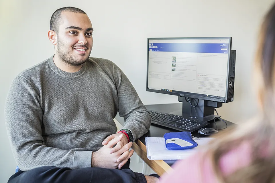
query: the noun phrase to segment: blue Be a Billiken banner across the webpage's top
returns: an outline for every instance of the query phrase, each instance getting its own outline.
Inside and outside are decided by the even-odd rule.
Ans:
[[[189,53],[228,53],[228,43],[149,43],[149,50]]]

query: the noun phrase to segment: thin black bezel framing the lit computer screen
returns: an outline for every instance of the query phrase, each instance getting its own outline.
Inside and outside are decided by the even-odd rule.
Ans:
[[[216,99],[213,97],[207,97],[207,95],[203,94],[195,94],[195,93],[189,93],[189,92],[167,92],[167,91],[161,91],[161,90],[156,90],[156,89],[149,89],[148,88],[148,67],[149,67],[149,40],[152,39],[229,39],[229,45],[228,45],[228,60],[227,60],[227,78],[226,78],[226,91],[225,91],[225,98],[224,99]],[[202,100],[210,100],[210,101],[217,101],[217,102],[231,102],[228,101],[227,96],[228,96],[228,82],[229,82],[229,64],[230,64],[230,56],[231,56],[231,44],[232,44],[232,37],[151,37],[147,38],[147,76],[146,76],[146,91],[148,92],[155,92],[155,93],[161,93],[161,94],[168,94],[168,95],[176,95],[176,96],[183,96],[183,97],[190,97],[190,98],[197,98],[197,99],[202,99]]]

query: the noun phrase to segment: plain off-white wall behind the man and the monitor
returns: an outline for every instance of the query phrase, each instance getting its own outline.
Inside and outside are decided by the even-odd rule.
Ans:
[[[54,53],[47,38],[52,13],[75,6],[90,17],[93,57],[115,62],[129,77],[144,104],[177,102],[176,96],[146,92],[148,37],[233,37],[237,50],[235,99],[218,109],[223,118],[238,122],[256,111],[250,88],[258,27],[271,0],[101,0],[0,1],[0,182],[7,182],[16,163],[4,122],[4,103],[12,79]],[[15,129],[16,130],[16,129]]]

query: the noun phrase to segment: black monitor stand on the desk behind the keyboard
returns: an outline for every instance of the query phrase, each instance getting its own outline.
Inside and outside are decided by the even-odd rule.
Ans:
[[[197,101],[198,99],[195,99],[195,100]],[[214,102],[214,101],[199,99],[199,104],[197,107],[195,107],[197,111],[197,116],[196,116],[195,109],[190,106],[189,102],[185,101],[184,97],[178,97],[178,101],[182,102],[182,117],[185,117],[185,118],[190,117],[190,108],[192,108],[191,119],[193,120],[197,119],[198,121],[209,122],[209,121],[213,121],[215,117],[221,117],[221,116],[214,115],[214,109],[220,108],[223,105],[223,103],[221,102]]]

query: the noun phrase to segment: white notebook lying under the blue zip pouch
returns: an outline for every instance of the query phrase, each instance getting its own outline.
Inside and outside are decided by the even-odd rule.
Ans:
[[[146,137],[146,150],[149,160],[184,160],[189,156],[196,153],[200,146],[207,145],[213,138],[201,138],[200,140],[194,139],[198,146],[186,150],[168,150],[165,147],[164,137]]]

